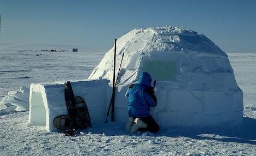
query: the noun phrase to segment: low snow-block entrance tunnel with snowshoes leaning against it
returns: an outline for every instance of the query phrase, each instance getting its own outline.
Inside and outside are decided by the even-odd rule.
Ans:
[[[106,101],[109,101],[106,93],[111,92],[108,83],[106,79],[71,82],[74,95],[84,99],[92,124],[104,122]],[[30,124],[42,125],[48,131],[57,131],[53,125],[54,118],[68,115],[64,87],[64,82],[31,84]]]

